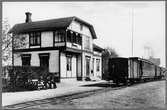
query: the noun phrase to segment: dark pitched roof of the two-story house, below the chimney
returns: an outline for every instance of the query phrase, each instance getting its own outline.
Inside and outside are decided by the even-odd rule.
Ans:
[[[71,24],[73,20],[81,22],[86,26],[88,26],[93,38],[94,39],[97,38],[93,26],[75,16],[16,24],[13,26],[12,29],[9,30],[9,33],[17,34],[17,33],[26,33],[32,31],[49,31],[59,28],[66,28]]]

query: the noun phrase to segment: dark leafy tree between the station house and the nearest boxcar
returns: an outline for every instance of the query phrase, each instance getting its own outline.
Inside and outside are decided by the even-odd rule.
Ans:
[[[113,58],[113,57],[118,57],[118,53],[115,51],[115,49],[111,48],[111,47],[106,47],[104,49],[104,51],[102,52],[102,69],[103,69],[103,73],[102,73],[102,78],[107,80],[108,78],[108,60],[109,58]]]

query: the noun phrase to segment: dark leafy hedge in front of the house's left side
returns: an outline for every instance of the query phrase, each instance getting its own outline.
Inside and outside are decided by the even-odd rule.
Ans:
[[[6,66],[3,67],[2,90],[3,92],[36,90],[38,89],[38,85],[32,83],[32,80],[45,80],[48,75],[48,69],[45,67]]]

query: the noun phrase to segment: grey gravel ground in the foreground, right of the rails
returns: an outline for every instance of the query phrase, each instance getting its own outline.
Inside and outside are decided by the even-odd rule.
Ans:
[[[66,108],[165,108],[165,81],[147,82],[118,90],[95,92],[89,96],[53,100],[52,103],[29,108],[66,109]]]

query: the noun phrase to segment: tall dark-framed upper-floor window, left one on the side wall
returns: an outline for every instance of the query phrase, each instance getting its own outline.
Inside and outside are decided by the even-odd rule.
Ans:
[[[31,32],[30,36],[30,46],[39,46],[41,44],[41,33]]]

